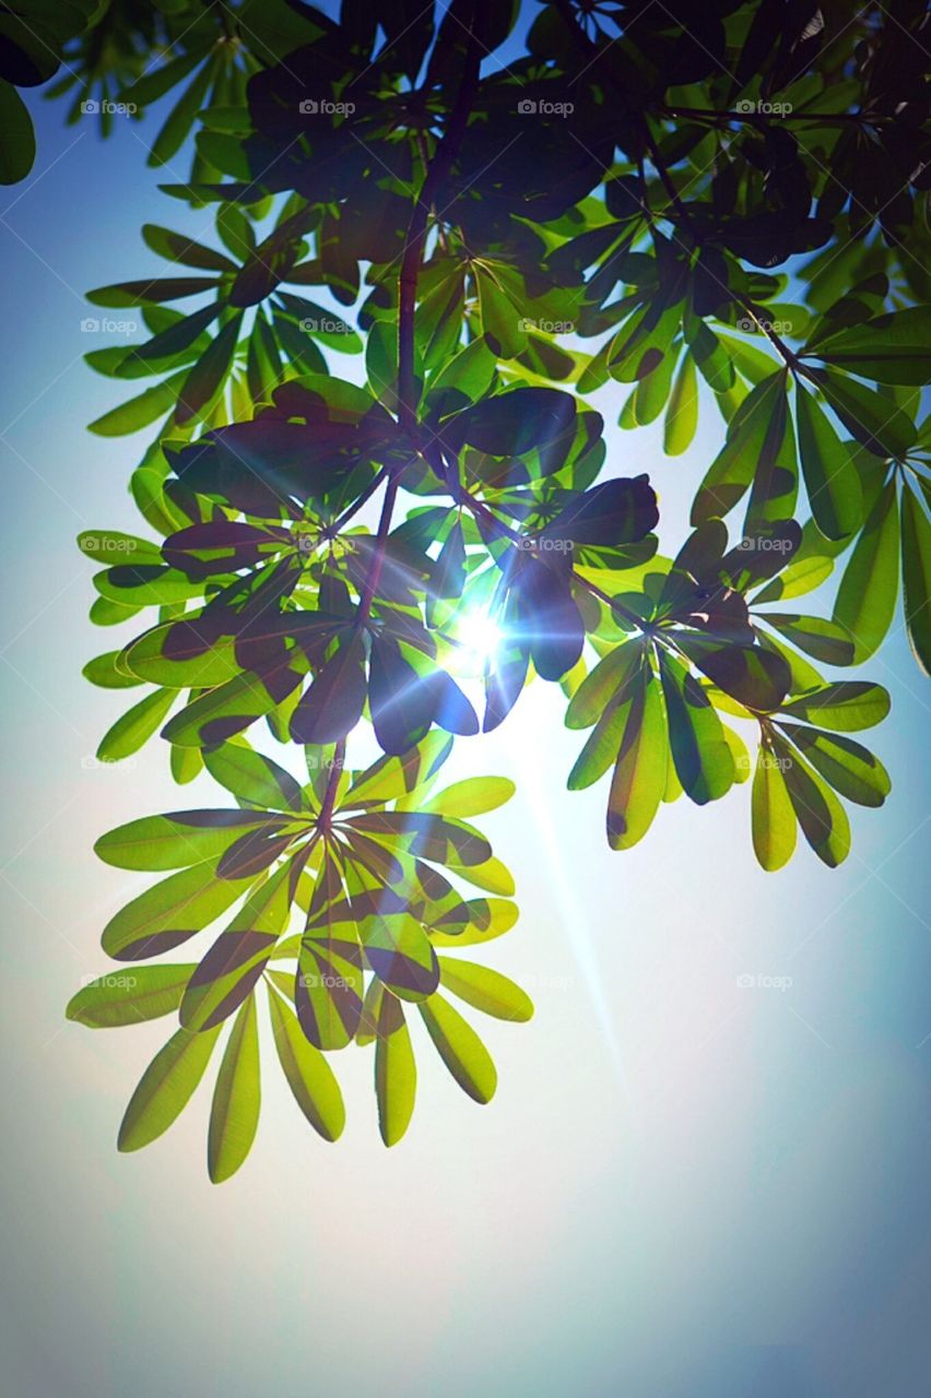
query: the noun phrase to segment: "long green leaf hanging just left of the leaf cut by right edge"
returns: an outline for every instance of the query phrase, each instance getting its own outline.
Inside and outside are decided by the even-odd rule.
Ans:
[[[847,561],[835,601],[833,619],[850,636],[854,663],[861,664],[882,643],[899,594],[899,510],[896,482],[879,492]]]

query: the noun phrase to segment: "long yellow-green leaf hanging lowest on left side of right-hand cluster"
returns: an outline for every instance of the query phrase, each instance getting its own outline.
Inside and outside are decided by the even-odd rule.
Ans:
[[[668,735],[660,686],[644,667],[630,707],[608,793],[608,844],[629,850],[643,839],[665,790]]]

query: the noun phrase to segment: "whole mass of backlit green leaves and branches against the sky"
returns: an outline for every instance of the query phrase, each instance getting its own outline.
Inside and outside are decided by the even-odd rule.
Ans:
[[[161,731],[179,783],[205,769],[232,797],[96,846],[158,881],[103,931],[127,973],[68,1016],[179,1018],[120,1149],[171,1125],[229,1021],[211,1179],[242,1165],[260,986],[324,1139],[344,1123],[329,1055],[352,1042],[375,1046],[384,1142],[404,1134],[412,1015],[491,1099],[447,997],[533,1012],[460,955],[516,921],[472,823],[513,787],[436,783],[534,675],[584,734],[569,787],[607,779],[612,849],[752,777],[763,868],[798,830],[826,865],[847,856],[846,802],[889,793],[851,734],[889,695],[843,672],[900,591],[931,670],[928,31],[913,0],[344,0],[338,21],[284,0],[13,4],[4,178],[32,155],[15,85],[60,64],[71,119],[164,113],[150,164],[215,229],[147,225],[165,275],[89,296],[150,333],[87,356],[130,393],[91,431],[155,425],[130,481],[144,533],[80,538],[110,565],[92,619],[131,628],[85,674],[143,691],[99,756]],[[362,368],[341,377],[338,355]],[[611,383],[628,453],[587,401]],[[660,419],[685,452],[699,408],[719,449],[664,556],[623,460]],[[835,569],[833,605],[800,612]],[[470,674],[477,617],[496,643]],[[361,724],[383,752],[363,770]],[[261,728],[303,749],[306,781]],[[152,960],[225,917],[200,960]]]

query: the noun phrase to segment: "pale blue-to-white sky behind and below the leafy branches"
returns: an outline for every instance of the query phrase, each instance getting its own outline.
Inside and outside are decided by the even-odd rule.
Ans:
[[[119,768],[87,761],[124,700],[80,674],[119,632],[87,621],[74,535],[145,531],[126,488],[145,438],[85,431],[119,389],[81,361],[112,343],[81,331],[82,292],[161,266],[143,222],[204,236],[210,215],[158,192],[151,117],[117,120],[103,145],[32,106],[36,168],[0,215],[3,1391],[927,1398],[930,691],[900,619],[864,668],[893,695],[868,737],[893,793],[851,811],[840,870],[802,847],[759,871],[746,787],[664,808],[643,844],[609,853],[604,783],[565,791],[579,735],[558,688],[534,684],[447,769],[519,786],[485,823],[521,920],[486,959],[537,1015],[479,1026],[493,1103],[456,1088],[417,1025],[418,1109],[390,1152],[372,1054],[348,1051],[335,1145],[266,1053],[259,1138],[232,1181],[207,1180],[211,1075],[168,1135],[117,1155],[166,1026],[64,1022],[81,977],[108,969],[101,928],[145,884],[91,844],[214,788],[179,795],[158,744]],[[598,405],[616,421],[619,403]],[[720,433],[706,408],[689,454],[664,460],[653,429],[609,432],[612,471],[649,470],[661,492],[667,551]]]

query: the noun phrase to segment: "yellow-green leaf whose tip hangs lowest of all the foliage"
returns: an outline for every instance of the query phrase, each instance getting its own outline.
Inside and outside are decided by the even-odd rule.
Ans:
[[[210,1109],[207,1170],[214,1184],[235,1174],[249,1155],[260,1104],[259,1016],[250,995],[233,1021]]]

